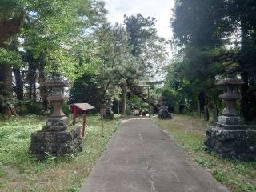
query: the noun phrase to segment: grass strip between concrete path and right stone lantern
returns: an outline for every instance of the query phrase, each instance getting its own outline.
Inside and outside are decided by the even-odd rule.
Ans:
[[[197,117],[174,115],[170,121],[152,118],[179,146],[197,162],[206,167],[213,177],[233,192],[256,192],[256,161],[241,162],[219,158],[204,150],[206,122]]]

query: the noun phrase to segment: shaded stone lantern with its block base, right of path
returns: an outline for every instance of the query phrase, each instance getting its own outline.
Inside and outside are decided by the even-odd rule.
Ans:
[[[206,149],[214,151],[222,158],[252,160],[256,158],[256,126],[244,125],[238,116],[235,103],[242,98],[239,87],[244,82],[238,78],[227,78],[217,83],[222,86],[219,97],[225,102],[222,115],[217,122],[206,129]]]

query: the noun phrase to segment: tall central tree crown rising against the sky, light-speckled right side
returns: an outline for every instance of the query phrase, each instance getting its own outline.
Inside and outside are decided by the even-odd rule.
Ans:
[[[124,24],[128,33],[128,43],[131,54],[139,58],[137,74],[146,77],[154,77],[155,73],[159,73],[166,64],[167,42],[164,38],[160,38],[155,27],[155,18],[144,18],[142,14],[131,16],[125,15]]]

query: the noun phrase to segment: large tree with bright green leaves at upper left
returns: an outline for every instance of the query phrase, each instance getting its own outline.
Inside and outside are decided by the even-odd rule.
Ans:
[[[93,62],[81,62],[86,60],[81,59],[80,56],[86,56],[80,53],[86,52],[88,49],[88,47],[82,46],[87,41],[86,30],[93,31],[102,20],[106,19],[104,3],[89,0],[3,0],[1,3],[0,43],[2,45],[0,46],[2,54],[5,51],[10,51],[6,45],[9,45],[14,38],[18,36],[19,39],[22,39],[18,47],[25,50],[26,56],[30,55],[30,59],[25,60],[22,64],[29,69],[26,79],[30,82],[30,88],[35,85],[34,81],[38,70],[40,83],[46,77],[46,72],[50,73],[54,70],[61,70],[72,82],[82,75],[82,71],[92,68]],[[17,22],[18,19],[19,22]],[[16,48],[18,49],[18,47]],[[18,51],[16,52],[18,53]],[[9,55],[11,56],[11,52]],[[13,64],[12,62],[0,63],[4,70],[2,73],[3,85],[12,86]],[[16,67],[14,70],[15,77],[20,74],[18,69],[20,67]],[[18,80],[18,78],[16,79]],[[4,87],[5,90],[6,87]],[[33,98],[35,98],[35,88],[34,86]],[[30,90],[32,93],[32,89]],[[42,92],[40,91],[40,93]],[[10,98],[12,95],[10,94]]]

